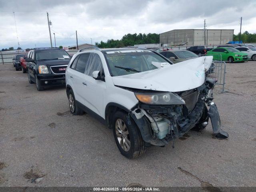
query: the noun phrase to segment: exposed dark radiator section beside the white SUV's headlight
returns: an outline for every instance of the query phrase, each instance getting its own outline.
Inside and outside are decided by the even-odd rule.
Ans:
[[[190,114],[194,110],[196,102],[198,100],[198,94],[199,93],[196,90],[182,92],[181,97],[186,103],[185,105],[188,108],[188,114]]]

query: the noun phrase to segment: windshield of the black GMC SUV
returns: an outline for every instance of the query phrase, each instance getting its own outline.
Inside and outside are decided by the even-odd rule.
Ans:
[[[45,50],[36,52],[36,60],[70,59],[68,53],[64,50]]]

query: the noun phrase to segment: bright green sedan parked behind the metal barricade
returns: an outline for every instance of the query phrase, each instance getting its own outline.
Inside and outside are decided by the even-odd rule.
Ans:
[[[218,47],[207,52],[212,55],[213,60],[232,62],[248,61],[248,55],[232,47]]]

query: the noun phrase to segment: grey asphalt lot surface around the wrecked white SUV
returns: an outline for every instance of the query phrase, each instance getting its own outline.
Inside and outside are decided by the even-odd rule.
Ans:
[[[256,186],[255,69],[227,64],[228,92],[215,89],[228,139],[214,138],[209,124],[174,149],[128,160],[112,130],[70,114],[65,88],[38,92],[27,74],[0,65],[0,186]]]

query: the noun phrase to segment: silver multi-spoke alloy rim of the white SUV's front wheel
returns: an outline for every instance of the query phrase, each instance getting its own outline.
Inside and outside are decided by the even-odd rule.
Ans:
[[[117,119],[115,128],[116,128],[116,137],[120,146],[124,151],[126,152],[129,151],[131,146],[131,141],[130,141],[130,135],[126,127],[126,124],[122,119]]]

